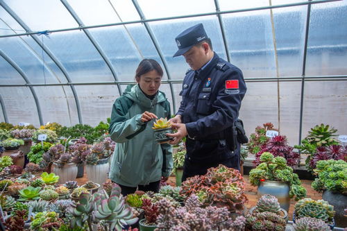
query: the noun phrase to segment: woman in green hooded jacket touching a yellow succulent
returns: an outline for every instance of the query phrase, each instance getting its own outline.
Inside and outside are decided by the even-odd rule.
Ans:
[[[169,144],[153,139],[153,120],[169,118],[170,104],[159,91],[162,68],[145,59],[136,69],[137,85],[128,85],[112,108],[110,136],[116,145],[109,177],[124,196],[142,191],[158,192],[160,179],[167,180],[173,160]]]

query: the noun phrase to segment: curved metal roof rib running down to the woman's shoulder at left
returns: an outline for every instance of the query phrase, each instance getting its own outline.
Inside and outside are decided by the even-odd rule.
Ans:
[[[71,8],[69,3],[67,3],[66,0],[60,0],[60,1],[61,1],[62,5],[64,5],[65,8],[67,8],[67,11],[69,11],[70,15],[75,19],[75,21],[78,23],[78,25],[83,27],[82,20],[78,17],[76,12]],[[108,65],[108,68],[110,68],[110,71],[112,72],[112,76],[113,76],[113,78],[115,78],[115,83],[117,84],[119,95],[121,96],[121,93],[122,93],[121,92],[121,86],[117,83],[118,82],[118,77],[117,77],[117,74],[116,74],[116,70],[113,67],[112,63],[110,62],[110,59],[107,57],[107,55],[105,55],[105,52],[103,51],[103,49],[101,49],[101,46],[99,45],[98,42],[96,42],[96,40],[94,39],[94,36],[90,33],[90,31],[88,31],[87,29],[82,29],[82,30],[85,33],[85,35],[87,35],[87,37],[90,40],[90,42],[92,42],[92,44],[94,45],[96,51],[99,52],[99,54],[103,58],[103,61],[105,61],[106,65]]]

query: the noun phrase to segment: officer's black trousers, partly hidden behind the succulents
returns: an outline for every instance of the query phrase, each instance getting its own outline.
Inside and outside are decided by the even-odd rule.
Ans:
[[[207,161],[201,161],[201,160],[194,160],[194,158],[185,157],[185,164],[183,166],[183,176],[182,176],[182,182],[187,180],[187,178],[190,178],[192,176],[203,176],[208,172],[208,169],[212,167],[217,167],[219,164],[223,164],[229,168],[232,169],[240,169],[240,156],[239,156],[239,148],[240,145],[237,145],[237,149],[234,151],[235,155],[232,155],[232,157],[228,157],[226,159],[218,159],[216,157],[214,160]]]

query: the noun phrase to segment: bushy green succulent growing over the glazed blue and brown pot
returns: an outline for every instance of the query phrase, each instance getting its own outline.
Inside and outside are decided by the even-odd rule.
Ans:
[[[287,166],[287,160],[284,157],[273,157],[271,153],[265,152],[260,156],[260,162],[249,173],[251,185],[260,185],[260,180],[282,181],[289,184],[289,196],[295,196],[295,200],[300,200],[306,196],[306,189],[301,186],[298,174],[294,173],[293,169]]]

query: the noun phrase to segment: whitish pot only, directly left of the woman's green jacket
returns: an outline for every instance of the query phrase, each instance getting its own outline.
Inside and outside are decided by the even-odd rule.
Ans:
[[[88,180],[99,185],[102,185],[108,178],[109,169],[108,158],[99,160],[96,165],[85,164]]]

